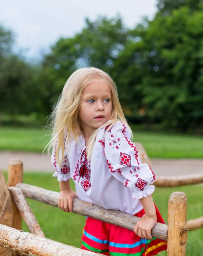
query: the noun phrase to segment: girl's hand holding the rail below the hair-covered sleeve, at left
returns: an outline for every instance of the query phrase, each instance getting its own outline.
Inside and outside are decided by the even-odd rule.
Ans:
[[[72,189],[61,190],[58,198],[58,207],[65,212],[72,212],[73,198],[77,198],[77,194]]]

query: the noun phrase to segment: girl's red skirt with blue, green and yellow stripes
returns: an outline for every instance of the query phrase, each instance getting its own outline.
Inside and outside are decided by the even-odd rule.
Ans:
[[[157,222],[165,223],[157,207]],[[144,215],[144,209],[135,216]],[[134,231],[88,217],[82,235],[82,249],[111,256],[152,256],[167,250],[161,239],[141,239]]]

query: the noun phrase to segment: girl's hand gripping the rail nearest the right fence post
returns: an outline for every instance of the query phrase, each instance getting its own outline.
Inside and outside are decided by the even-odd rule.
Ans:
[[[151,230],[155,226],[157,222],[157,218],[148,217],[144,214],[141,219],[137,222],[134,228],[134,232],[136,235],[141,237],[142,239],[152,239]]]

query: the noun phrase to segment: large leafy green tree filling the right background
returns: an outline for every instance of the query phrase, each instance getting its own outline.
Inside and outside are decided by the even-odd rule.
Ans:
[[[182,7],[147,23],[132,31],[134,42],[125,47],[119,60],[128,60],[126,79],[130,77],[132,88],[134,83],[138,108],[167,127],[182,131],[201,127],[203,13]],[[118,74],[118,81],[122,76]]]

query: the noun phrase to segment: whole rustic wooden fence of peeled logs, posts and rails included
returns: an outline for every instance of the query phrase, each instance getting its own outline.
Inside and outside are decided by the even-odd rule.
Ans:
[[[196,181],[199,182],[197,177]],[[166,178],[157,178],[156,186],[164,186]],[[178,180],[181,180],[178,178]],[[185,179],[185,176],[183,177]],[[190,184],[189,180],[181,181]],[[194,179],[190,178],[191,183]],[[169,180],[167,181],[170,183]],[[176,181],[170,183],[177,184]],[[177,186],[177,185],[175,185]],[[46,239],[25,198],[58,207],[58,192],[49,191],[23,183],[23,163],[11,160],[8,167],[8,187],[0,171],[0,256],[65,256],[65,255],[97,255],[79,248],[61,244]],[[10,193],[12,197],[10,196]],[[203,218],[186,221],[186,195],[174,192],[169,197],[168,225],[157,223],[152,229],[152,236],[167,241],[168,256],[185,256],[187,230],[203,226]],[[133,230],[139,220],[138,217],[116,210],[107,210],[97,205],[89,204],[78,198],[73,200],[73,212],[105,221]],[[22,231],[22,217],[31,233]],[[12,249],[12,250],[11,250]],[[20,253],[20,254],[17,254]]]

